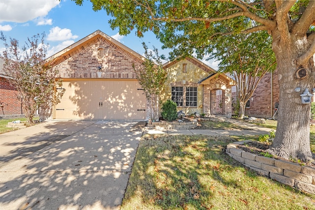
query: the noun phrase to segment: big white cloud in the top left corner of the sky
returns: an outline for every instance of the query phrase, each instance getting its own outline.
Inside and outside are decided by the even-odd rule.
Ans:
[[[59,3],[59,0],[0,0],[0,22],[25,23],[44,17]]]

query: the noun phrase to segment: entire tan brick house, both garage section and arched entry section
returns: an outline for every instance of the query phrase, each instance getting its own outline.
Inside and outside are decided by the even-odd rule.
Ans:
[[[51,58],[65,89],[61,103],[53,108],[53,119],[149,119],[149,105],[132,67],[145,58],[122,43],[97,30]],[[168,80],[162,101],[174,100],[186,114],[231,117],[232,79],[194,58],[163,67]],[[223,92],[220,105],[217,90]],[[221,106],[220,113],[216,106]]]

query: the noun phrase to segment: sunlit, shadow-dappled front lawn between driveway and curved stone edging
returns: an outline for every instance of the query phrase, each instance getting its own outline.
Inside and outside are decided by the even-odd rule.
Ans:
[[[315,195],[258,175],[222,149],[231,137],[142,137],[122,210],[306,210]]]

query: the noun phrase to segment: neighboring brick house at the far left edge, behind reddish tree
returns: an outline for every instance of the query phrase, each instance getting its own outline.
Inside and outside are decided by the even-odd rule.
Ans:
[[[22,115],[22,104],[18,100],[17,90],[11,86],[3,72],[4,60],[0,58],[0,116]]]

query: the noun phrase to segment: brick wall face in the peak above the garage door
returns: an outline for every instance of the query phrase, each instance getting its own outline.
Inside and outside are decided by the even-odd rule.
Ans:
[[[104,51],[98,56],[98,50]],[[65,56],[67,57],[67,56]],[[142,60],[129,54],[126,50],[111,46],[106,39],[98,42],[86,43],[79,48],[79,52],[69,55],[69,58],[57,65],[62,78],[99,78],[98,66],[101,66],[100,78],[135,78],[132,64],[140,66]]]

